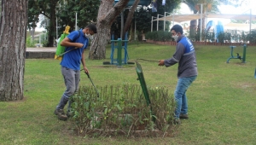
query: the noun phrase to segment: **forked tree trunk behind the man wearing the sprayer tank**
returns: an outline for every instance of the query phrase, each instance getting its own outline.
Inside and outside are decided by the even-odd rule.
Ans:
[[[89,58],[102,60],[106,58],[106,45],[110,40],[110,27],[113,20],[122,12],[129,0],[119,0],[113,6],[113,0],[102,0],[97,16],[97,33],[90,46]]]

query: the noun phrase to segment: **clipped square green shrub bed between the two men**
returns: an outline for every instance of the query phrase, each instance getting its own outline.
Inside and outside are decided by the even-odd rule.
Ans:
[[[173,97],[164,87],[149,88],[148,93],[152,112],[139,85],[106,85],[101,88],[99,98],[93,87],[80,87],[79,94],[72,98],[73,125],[79,134],[88,136],[90,132],[131,136],[136,131],[170,131],[175,108]]]

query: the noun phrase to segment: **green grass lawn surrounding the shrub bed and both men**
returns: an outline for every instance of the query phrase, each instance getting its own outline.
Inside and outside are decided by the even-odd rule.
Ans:
[[[130,60],[158,61],[172,57],[174,46],[129,44]],[[172,137],[88,138],[76,136],[70,121],[58,120],[53,111],[65,90],[60,61],[26,60],[25,99],[0,102],[0,144],[254,144],[256,142],[256,47],[247,48],[247,63],[231,59],[228,46],[196,46],[198,78],[187,92],[189,120],[183,120]],[[234,53],[242,54],[242,47]],[[107,57],[110,56],[110,47]],[[86,60],[94,84],[139,84],[135,66],[103,66]],[[159,67],[157,62],[139,61],[148,86],[177,83],[177,65]],[[80,85],[91,85],[81,73]]]

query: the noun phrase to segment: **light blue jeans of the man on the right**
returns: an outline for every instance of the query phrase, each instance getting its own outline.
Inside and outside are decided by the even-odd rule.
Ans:
[[[197,76],[178,78],[176,90],[174,92],[175,102],[177,103],[175,109],[175,118],[179,119],[179,114],[188,114],[188,102],[186,91],[189,88],[189,85],[195,80]]]

